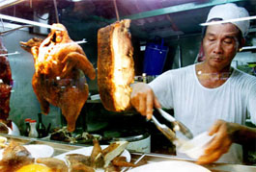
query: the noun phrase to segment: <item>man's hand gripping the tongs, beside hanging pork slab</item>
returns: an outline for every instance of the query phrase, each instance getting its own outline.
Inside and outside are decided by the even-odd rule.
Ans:
[[[137,83],[131,86],[131,105],[142,115],[151,119],[153,108],[160,108],[160,104],[150,86],[145,83]]]

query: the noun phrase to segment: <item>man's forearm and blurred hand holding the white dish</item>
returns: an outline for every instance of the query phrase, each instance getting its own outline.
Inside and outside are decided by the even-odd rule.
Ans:
[[[228,152],[232,143],[243,146],[256,147],[256,129],[242,126],[237,123],[217,120],[209,131],[209,135],[215,134],[213,140],[205,149],[205,155],[197,160],[199,164],[211,163],[218,160],[222,154]]]

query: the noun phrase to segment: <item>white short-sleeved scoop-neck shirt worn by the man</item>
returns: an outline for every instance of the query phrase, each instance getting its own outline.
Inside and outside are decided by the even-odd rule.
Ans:
[[[217,119],[244,125],[248,114],[256,123],[256,77],[237,69],[223,85],[215,88],[199,83],[195,64],[169,70],[149,85],[161,106],[174,109],[176,119],[193,135],[208,131]],[[242,146],[232,144],[229,153],[218,161],[241,163]]]

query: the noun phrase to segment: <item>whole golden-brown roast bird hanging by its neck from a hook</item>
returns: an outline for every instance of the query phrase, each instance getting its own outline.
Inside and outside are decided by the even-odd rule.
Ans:
[[[71,40],[65,26],[53,26],[61,30],[51,29],[44,40],[32,38],[20,44],[34,57],[32,86],[42,112],[49,112],[49,104],[59,107],[67,120],[68,130],[73,132],[76,119],[89,94],[84,75],[94,80],[96,70],[83,49]]]

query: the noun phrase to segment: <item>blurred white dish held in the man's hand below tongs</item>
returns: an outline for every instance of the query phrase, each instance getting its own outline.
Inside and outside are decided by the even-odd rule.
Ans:
[[[186,141],[177,151],[197,160],[204,155],[205,148],[213,137],[214,135],[208,135],[208,132],[196,135],[193,139]]]

